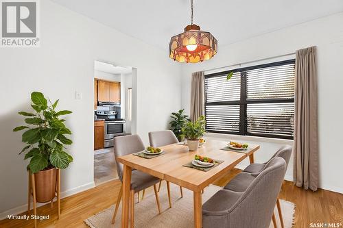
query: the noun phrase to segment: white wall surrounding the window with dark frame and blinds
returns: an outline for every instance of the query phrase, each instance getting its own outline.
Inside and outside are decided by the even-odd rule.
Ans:
[[[182,66],[182,107],[189,113],[191,73],[293,53],[316,45],[318,50],[319,168],[321,188],[343,192],[341,120],[343,106],[343,13],[280,29],[218,48],[212,60]],[[220,40],[218,41],[220,44]],[[270,60],[273,61],[273,60]],[[267,160],[274,147],[263,145],[257,160]],[[287,175],[292,173],[292,164]]]

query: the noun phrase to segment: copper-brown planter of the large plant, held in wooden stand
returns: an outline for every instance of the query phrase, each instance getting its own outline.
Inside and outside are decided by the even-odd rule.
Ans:
[[[35,173],[34,182],[37,202],[45,203],[54,199],[56,193],[56,168]]]

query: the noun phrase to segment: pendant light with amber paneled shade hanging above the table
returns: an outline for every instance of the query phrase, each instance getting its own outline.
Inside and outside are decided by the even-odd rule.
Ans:
[[[200,31],[193,24],[193,0],[191,0],[191,25],[182,34],[172,36],[169,43],[169,58],[178,62],[202,62],[217,53],[217,40],[208,31]]]

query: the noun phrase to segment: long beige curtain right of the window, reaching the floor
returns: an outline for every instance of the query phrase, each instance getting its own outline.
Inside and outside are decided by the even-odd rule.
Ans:
[[[318,188],[316,47],[296,51],[294,184]]]

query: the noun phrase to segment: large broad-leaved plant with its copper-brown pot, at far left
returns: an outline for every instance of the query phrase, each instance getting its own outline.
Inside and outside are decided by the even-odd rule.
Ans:
[[[57,111],[58,100],[54,103],[49,100],[48,105],[41,92],[32,92],[31,101],[34,112],[19,112],[27,117],[24,120],[26,125],[13,131],[25,129],[22,140],[27,145],[21,153],[25,153],[25,160],[29,159],[27,170],[34,173],[36,201],[44,203],[55,197],[56,168],[67,168],[73,161],[73,157],[64,151],[64,145],[72,143],[64,135],[71,134],[71,131],[60,118],[71,111]]]

